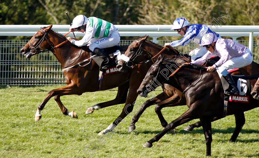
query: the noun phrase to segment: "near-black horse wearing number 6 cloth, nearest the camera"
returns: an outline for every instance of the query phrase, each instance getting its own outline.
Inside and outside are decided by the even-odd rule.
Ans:
[[[180,65],[179,62],[175,61],[164,62],[161,58],[150,67],[142,81],[139,87],[140,95],[143,95],[147,86],[149,92],[155,89],[158,85],[154,83],[158,82],[170,84],[185,92],[189,109],[143,146],[152,147],[152,143],[157,142],[171,129],[199,118],[206,139],[206,156],[210,156],[212,143],[211,119],[221,117],[224,111],[224,90],[218,74],[208,72],[207,68],[201,66],[189,63]],[[229,101],[227,115],[248,111],[258,106],[259,100],[253,99],[251,96],[249,97],[249,103]]]

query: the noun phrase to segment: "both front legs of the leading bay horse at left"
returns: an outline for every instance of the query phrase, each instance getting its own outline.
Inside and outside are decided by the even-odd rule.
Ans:
[[[60,109],[62,110],[62,113],[64,113],[65,115],[68,115],[69,111],[61,103],[59,97],[64,96],[64,95],[72,95],[72,94],[81,95],[82,92],[79,93],[79,90],[78,90],[77,86],[74,85],[74,84],[69,84],[69,85],[66,85],[64,87],[53,89],[50,92],[48,92],[45,99],[40,103],[40,105],[37,108],[37,112],[35,114],[35,121],[37,122],[41,119],[42,115],[40,114],[40,112],[43,110],[44,106],[47,104],[47,102],[53,96],[57,96],[55,99],[58,100],[57,103],[60,106]],[[75,116],[73,113],[71,113],[71,115]]]

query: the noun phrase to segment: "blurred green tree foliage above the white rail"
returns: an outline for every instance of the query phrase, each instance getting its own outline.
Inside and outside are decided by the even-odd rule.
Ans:
[[[259,25],[259,0],[1,0],[0,24],[68,24],[79,14],[113,24],[172,24],[177,17],[191,24],[211,25],[226,15],[222,25]],[[5,38],[5,37],[1,37]]]

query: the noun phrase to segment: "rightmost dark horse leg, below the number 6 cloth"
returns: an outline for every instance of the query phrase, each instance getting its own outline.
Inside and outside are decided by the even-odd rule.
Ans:
[[[242,113],[237,113],[235,114],[235,119],[236,119],[236,128],[233,132],[233,135],[229,141],[235,142],[237,136],[239,135],[243,125],[245,124],[245,114],[244,112]]]

